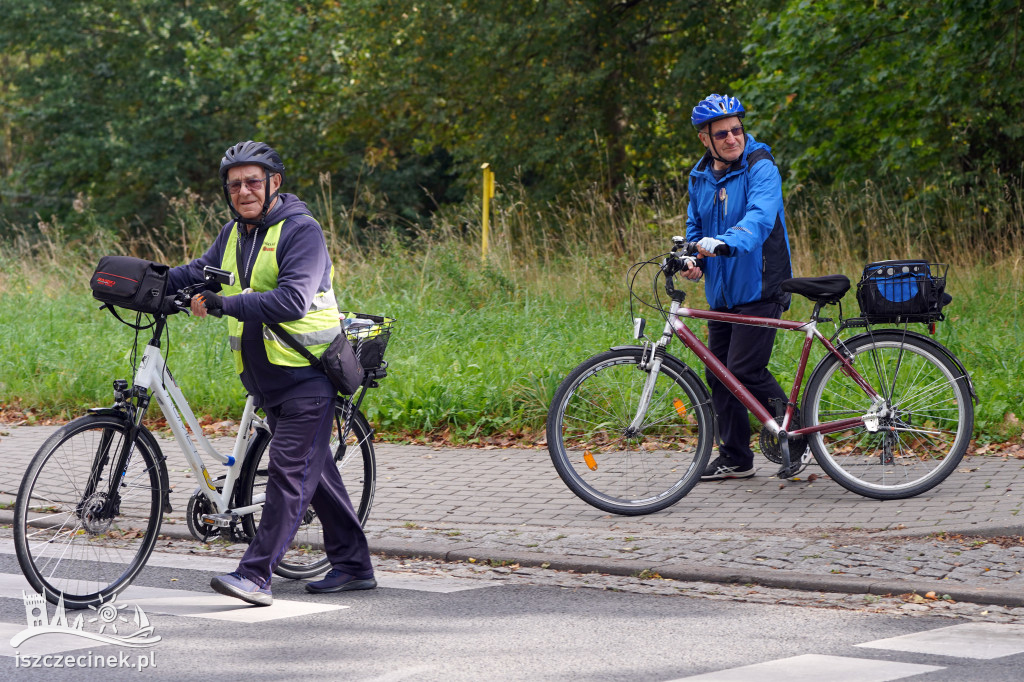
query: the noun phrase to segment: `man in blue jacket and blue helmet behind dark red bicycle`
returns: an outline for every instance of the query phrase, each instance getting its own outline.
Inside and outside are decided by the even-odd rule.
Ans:
[[[714,310],[781,317],[790,295],[779,285],[793,276],[790,240],[782,211],[782,178],[771,148],[743,130],[743,105],[735,97],[711,94],[690,117],[707,148],[690,171],[686,240],[696,242],[705,294]],[[708,323],[708,346],[771,414],[786,401],[768,371],[775,330]],[[708,384],[718,417],[719,456],[701,480],[754,475],[746,408],[710,371]]]

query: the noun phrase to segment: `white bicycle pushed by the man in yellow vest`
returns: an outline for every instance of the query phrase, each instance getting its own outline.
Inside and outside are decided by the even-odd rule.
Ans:
[[[218,268],[206,270],[208,282],[226,283],[229,275]],[[206,286],[180,290],[173,311],[187,309],[191,294]],[[29,583],[51,603],[61,595],[68,608],[105,603],[131,584],[153,553],[171,503],[167,460],[142,424],[152,398],[200,483],[185,514],[191,535],[202,541],[221,537],[248,542],[259,525],[272,434],[249,396],[231,453],[214,449],[161,353],[169,314],[154,314],[146,327],[141,325],[141,313],[135,325],[126,323],[136,336],[153,329],[134,380],[130,385],[125,380],[114,382],[113,407],[92,409],[47,438],[22,479],[14,508],[17,560]],[[360,353],[366,378],[352,396],[336,397],[331,447],[365,524],[377,474],[374,432],[359,404],[367,389],[387,376],[383,354],[394,321],[356,317],[362,325],[348,334],[354,343],[370,346]],[[204,455],[221,473],[211,475]],[[274,572],[304,579],[329,567],[321,520],[310,507]]]

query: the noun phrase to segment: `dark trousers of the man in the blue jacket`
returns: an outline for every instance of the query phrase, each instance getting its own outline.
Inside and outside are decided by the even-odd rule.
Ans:
[[[726,312],[778,318],[782,316],[782,306],[758,301],[737,305]],[[785,391],[768,371],[774,341],[775,330],[767,327],[708,323],[708,348],[736,375],[740,383],[746,386],[772,416],[775,415],[775,406],[771,400],[780,399],[784,404],[788,399]],[[729,464],[749,469],[754,465],[754,452],[751,450],[751,423],[746,408],[710,370],[705,372],[705,376],[711,387],[712,407],[718,417],[721,437],[719,455]]]

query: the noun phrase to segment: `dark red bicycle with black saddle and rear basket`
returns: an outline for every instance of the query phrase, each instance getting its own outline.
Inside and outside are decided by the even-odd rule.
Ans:
[[[974,430],[977,399],[961,361],[934,339],[911,331],[943,318],[941,276],[924,261],[885,261],[865,269],[858,285],[861,314],[843,317],[836,332],[821,315],[850,290],[841,274],[787,280],[782,288],[814,303],[806,322],[753,317],[683,306],[674,275],[695,263],[695,245],[674,238],[670,254],[631,268],[630,293],[665,317],[659,338],[615,346],[575,368],[555,392],[548,412],[548,450],[565,484],[588,504],[616,514],[648,514],[681,500],[696,484],[715,439],[708,388],[682,359],[667,352],[678,338],[761,422],[762,453],[796,476],[811,462],[847,489],[877,500],[920,495],[942,482],[959,463]],[[909,265],[907,263],[910,263]],[[924,263],[921,265],[920,263]],[[656,266],[654,302],[634,290],[646,265]],[[658,279],[671,299],[658,300]],[[877,302],[879,299],[880,302]],[[888,307],[886,307],[888,306]],[[866,308],[866,309],[865,309]],[[772,327],[804,335],[793,388],[776,414],[766,410],[686,327],[685,318]],[[863,328],[848,338],[850,329]],[[811,349],[824,356],[798,397]]]

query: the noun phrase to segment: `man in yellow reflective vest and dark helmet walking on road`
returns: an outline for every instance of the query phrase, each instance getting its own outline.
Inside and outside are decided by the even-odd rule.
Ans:
[[[210,582],[217,592],[269,605],[270,577],[306,509],[324,527],[332,569],[309,592],[377,586],[367,538],[334,465],[331,431],[336,390],[321,370],[266,325],[278,324],[314,355],[340,333],[333,265],[319,224],[294,195],[281,194],[285,166],[263,142],[229,147],[220,162],[224,198],[233,215],[202,257],[170,271],[177,290],[203,282],[213,265],[236,283],[193,297],[191,311],[228,317],[236,370],[273,434],[266,501],[259,528],[238,569]]]

